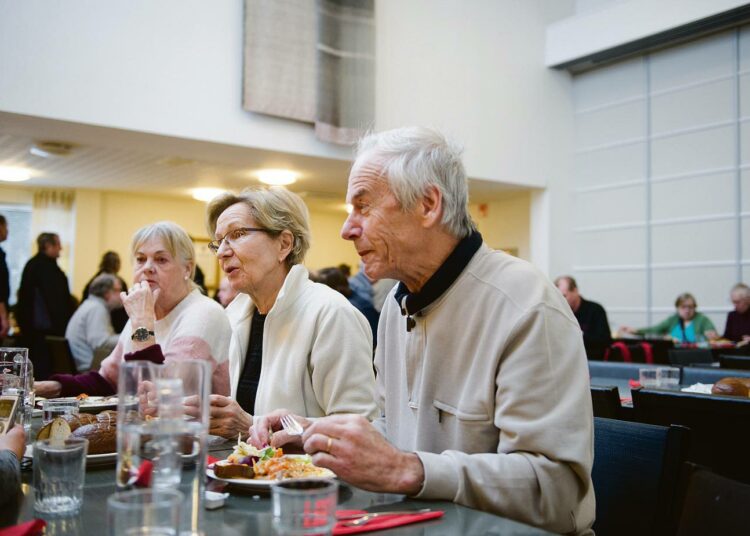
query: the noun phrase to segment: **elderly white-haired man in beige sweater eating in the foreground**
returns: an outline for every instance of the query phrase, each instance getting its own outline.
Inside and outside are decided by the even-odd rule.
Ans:
[[[460,151],[424,128],[369,135],[347,201],[341,235],[367,276],[400,281],[378,332],[381,416],[300,418],[305,451],[360,488],[590,534],[593,418],[581,330],[544,275],[483,243]],[[252,440],[266,441],[282,413],[259,419]]]

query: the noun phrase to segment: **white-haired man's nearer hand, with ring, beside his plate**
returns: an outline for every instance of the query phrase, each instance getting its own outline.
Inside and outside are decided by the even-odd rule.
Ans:
[[[416,495],[424,482],[424,467],[413,452],[390,443],[359,415],[316,419],[302,434],[313,463],[369,491]]]

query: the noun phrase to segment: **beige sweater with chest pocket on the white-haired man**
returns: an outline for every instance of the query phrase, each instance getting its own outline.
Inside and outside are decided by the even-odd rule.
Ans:
[[[593,418],[581,329],[550,281],[486,245],[406,320],[389,295],[376,421],[425,469],[418,495],[558,533],[594,522]]]

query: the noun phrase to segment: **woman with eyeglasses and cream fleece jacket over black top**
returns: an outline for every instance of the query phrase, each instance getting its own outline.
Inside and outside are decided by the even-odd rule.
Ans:
[[[208,206],[209,248],[240,293],[226,309],[232,392],[211,397],[212,434],[245,437],[254,415],[279,408],[375,416],[370,326],[341,294],[310,281],[308,219],[283,188],[226,193]]]

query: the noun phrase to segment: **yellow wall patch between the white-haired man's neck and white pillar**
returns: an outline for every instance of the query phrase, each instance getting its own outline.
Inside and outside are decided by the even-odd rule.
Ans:
[[[515,248],[519,257],[529,260],[530,204],[531,193],[519,192],[487,203],[484,215],[475,203],[469,205],[469,211],[487,245],[494,249]]]

